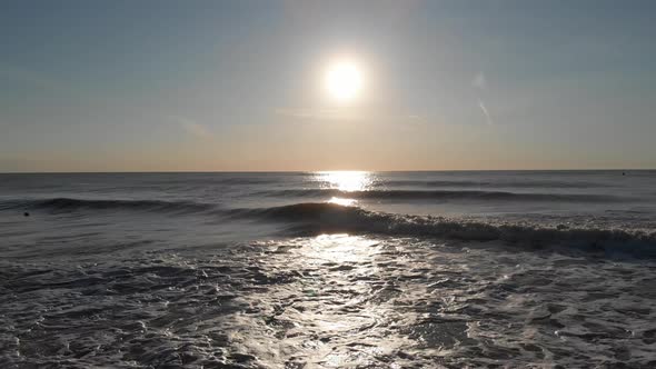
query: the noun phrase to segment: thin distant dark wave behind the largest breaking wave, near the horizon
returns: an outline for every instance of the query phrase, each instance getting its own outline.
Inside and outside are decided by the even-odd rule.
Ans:
[[[507,191],[467,190],[368,190],[341,191],[338,189],[297,189],[267,191],[269,197],[345,197],[358,200],[483,200],[483,201],[567,201],[567,202],[616,202],[626,198],[607,195],[585,193],[523,193]]]

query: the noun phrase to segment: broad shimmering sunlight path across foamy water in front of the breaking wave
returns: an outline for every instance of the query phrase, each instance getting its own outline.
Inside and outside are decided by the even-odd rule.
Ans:
[[[288,368],[372,365],[379,362],[376,357],[391,356],[408,343],[390,338],[387,327],[401,318],[379,303],[399,292],[392,281],[380,279],[375,260],[380,251],[378,241],[348,235],[278,247],[276,252],[287,255],[287,268],[296,270],[299,282],[251,298],[279,301],[267,325],[281,339],[279,353],[294,352],[286,360]]]

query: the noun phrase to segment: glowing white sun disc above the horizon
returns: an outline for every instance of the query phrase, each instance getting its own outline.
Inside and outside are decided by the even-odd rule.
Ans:
[[[326,72],[326,89],[338,101],[351,101],[362,89],[362,72],[352,61],[338,61]]]

